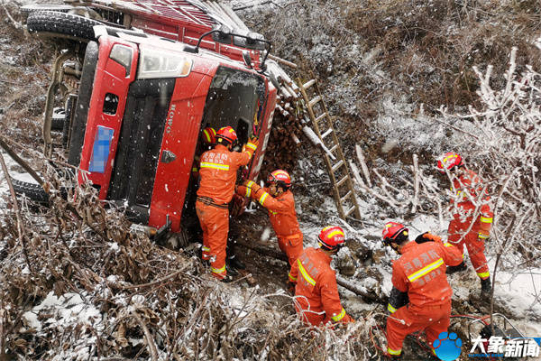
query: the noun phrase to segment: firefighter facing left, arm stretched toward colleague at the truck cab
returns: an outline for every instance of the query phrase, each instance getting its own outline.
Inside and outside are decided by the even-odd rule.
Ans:
[[[295,199],[290,189],[289,173],[277,170],[272,171],[267,177],[267,187],[261,188],[252,180],[246,180],[236,192],[243,197],[257,200],[261,206],[269,210],[269,219],[278,238],[280,250],[288,255],[289,266],[292,266],[302,253],[303,236],[298,227]]]

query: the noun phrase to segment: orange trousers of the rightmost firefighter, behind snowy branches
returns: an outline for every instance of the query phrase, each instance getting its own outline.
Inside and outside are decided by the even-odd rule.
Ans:
[[[472,226],[472,230],[463,236],[463,233],[470,227],[470,222],[471,220],[466,220],[465,222],[460,222],[456,219],[451,220],[447,230],[448,241],[457,246],[463,254],[464,244],[466,245],[475,272],[482,280],[485,280],[490,277],[491,273],[489,273],[489,265],[484,255],[484,241],[479,238],[479,226],[477,225],[479,220]]]

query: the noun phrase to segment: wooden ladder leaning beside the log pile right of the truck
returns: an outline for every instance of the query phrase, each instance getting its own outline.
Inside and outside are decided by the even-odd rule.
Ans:
[[[325,156],[327,172],[333,183],[338,214],[344,220],[347,217],[361,219],[359,204],[355,198],[353,181],[344,159],[344,152],[342,152],[342,147],[336,137],[333,118],[329,116],[316,79],[309,80],[304,84],[301,79],[298,79],[297,83],[298,90],[304,98],[308,116],[312,121],[314,133],[323,144],[322,152]]]

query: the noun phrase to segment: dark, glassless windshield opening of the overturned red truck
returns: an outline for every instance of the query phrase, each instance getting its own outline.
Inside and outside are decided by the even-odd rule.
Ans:
[[[260,119],[265,96],[261,77],[247,71],[219,67],[208,96],[201,129],[233,126],[240,144],[252,135],[255,117]]]

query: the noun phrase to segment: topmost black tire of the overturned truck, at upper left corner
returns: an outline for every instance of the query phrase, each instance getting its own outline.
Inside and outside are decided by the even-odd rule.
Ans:
[[[102,23],[75,14],[37,11],[28,15],[29,32],[46,32],[55,36],[89,42],[96,41],[93,26]]]

